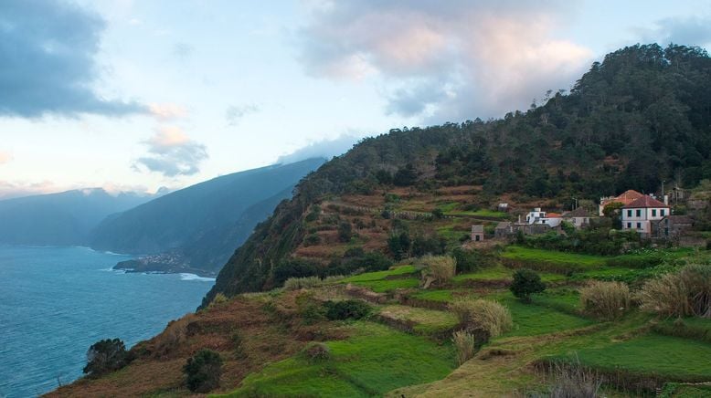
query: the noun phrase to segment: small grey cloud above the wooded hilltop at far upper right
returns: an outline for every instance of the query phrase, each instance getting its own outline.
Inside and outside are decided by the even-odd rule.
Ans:
[[[638,29],[642,41],[684,46],[711,46],[711,17],[689,16],[663,18],[652,28]]]

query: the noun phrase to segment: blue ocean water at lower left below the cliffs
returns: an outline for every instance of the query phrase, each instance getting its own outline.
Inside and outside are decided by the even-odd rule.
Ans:
[[[0,397],[48,393],[82,375],[101,339],[127,348],[194,311],[214,279],[124,274],[130,256],[87,247],[0,246]]]

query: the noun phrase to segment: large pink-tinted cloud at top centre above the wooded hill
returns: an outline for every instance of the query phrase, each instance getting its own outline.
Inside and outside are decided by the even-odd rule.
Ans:
[[[591,51],[554,37],[577,2],[315,1],[300,60],[324,79],[382,81],[387,113],[433,121],[525,109],[568,89]]]

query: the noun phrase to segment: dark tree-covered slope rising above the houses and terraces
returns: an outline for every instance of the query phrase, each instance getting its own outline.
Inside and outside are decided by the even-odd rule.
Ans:
[[[703,178],[711,178],[711,58],[698,47],[625,47],[595,62],[570,93],[549,92],[525,113],[361,141],[299,183],[229,259],[203,305],[218,292],[271,288],[274,266],[291,261],[304,217],[326,195],[473,184],[483,186],[483,204],[505,193],[568,204]]]

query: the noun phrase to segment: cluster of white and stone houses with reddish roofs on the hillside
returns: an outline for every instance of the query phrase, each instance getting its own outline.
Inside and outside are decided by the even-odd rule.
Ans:
[[[516,221],[502,221],[495,226],[493,237],[506,239],[518,234],[540,235],[549,232],[564,233],[564,223],[576,229],[595,225],[596,220],[614,213],[620,217],[621,230],[635,231],[642,238],[653,241],[673,242],[682,246],[698,246],[705,244],[704,239],[690,236],[695,225],[695,213],[706,208],[706,201],[691,201],[684,198],[682,191],[674,191],[674,201],[682,201],[692,212],[689,215],[674,215],[669,204],[669,195],[657,198],[653,194],[641,194],[628,190],[618,196],[600,198],[597,211],[590,208],[577,207],[564,213],[544,211],[540,207],[530,210],[527,214],[517,215]],[[660,200],[662,199],[662,200]],[[607,209],[607,211],[606,211]],[[498,210],[509,212],[508,204],[499,204]],[[472,242],[484,241],[484,225],[472,225]]]

